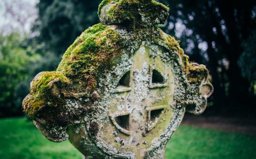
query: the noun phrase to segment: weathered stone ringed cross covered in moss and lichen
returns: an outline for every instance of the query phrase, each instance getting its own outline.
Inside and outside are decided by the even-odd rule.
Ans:
[[[153,0],[100,4],[101,23],[23,100],[47,139],[69,139],[86,158],[164,158],[185,111],[201,114],[213,92],[206,67],[156,27],[168,10]]]

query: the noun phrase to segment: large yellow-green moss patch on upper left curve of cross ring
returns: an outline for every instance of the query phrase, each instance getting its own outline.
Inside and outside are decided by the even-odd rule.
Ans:
[[[107,25],[96,24],[84,31],[67,49],[57,70],[73,82],[82,83],[83,89],[92,91],[98,70],[121,55],[122,46],[122,38],[116,31]]]

